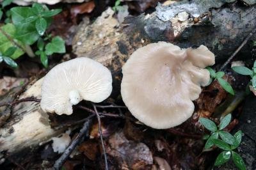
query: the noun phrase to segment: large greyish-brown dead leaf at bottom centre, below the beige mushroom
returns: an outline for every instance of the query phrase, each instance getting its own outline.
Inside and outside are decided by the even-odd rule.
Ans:
[[[151,169],[153,158],[146,144],[129,141],[123,132],[111,135],[108,143],[107,153],[116,158],[120,169]]]

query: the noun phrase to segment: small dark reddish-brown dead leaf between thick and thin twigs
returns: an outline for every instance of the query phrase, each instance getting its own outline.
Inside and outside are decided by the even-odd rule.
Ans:
[[[93,141],[85,141],[80,144],[79,151],[83,152],[86,157],[90,160],[95,160],[97,154],[99,153],[98,144]]]

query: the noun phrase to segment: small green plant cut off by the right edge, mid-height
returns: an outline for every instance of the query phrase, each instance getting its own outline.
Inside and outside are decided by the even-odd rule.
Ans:
[[[254,61],[253,63],[252,70],[250,68],[247,68],[246,66],[233,66],[232,70],[241,75],[250,75],[252,79],[249,82],[248,86],[252,86],[253,89],[256,90],[256,61]]]

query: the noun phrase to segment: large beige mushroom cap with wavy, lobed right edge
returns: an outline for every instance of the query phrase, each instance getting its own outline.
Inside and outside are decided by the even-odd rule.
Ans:
[[[193,114],[191,100],[198,98],[200,86],[209,82],[210,75],[204,67],[214,65],[214,59],[204,45],[180,49],[172,43],[158,42],[141,47],[122,68],[125,105],[149,127],[180,125]]]

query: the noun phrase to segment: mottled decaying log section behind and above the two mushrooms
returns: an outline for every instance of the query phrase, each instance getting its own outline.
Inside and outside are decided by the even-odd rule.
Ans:
[[[99,59],[112,68],[121,70],[129,55],[148,43],[166,41],[182,48],[207,46],[216,55],[216,61],[225,61],[241,45],[256,26],[256,6],[237,1],[194,0],[161,6],[156,12],[127,17],[120,25],[111,9],[102,13],[93,24],[81,24],[73,41],[77,56]],[[192,8],[193,7],[193,8]],[[179,21],[177,14],[186,11],[189,18]],[[256,35],[251,40],[255,40]],[[248,43],[240,56],[248,56]]]

